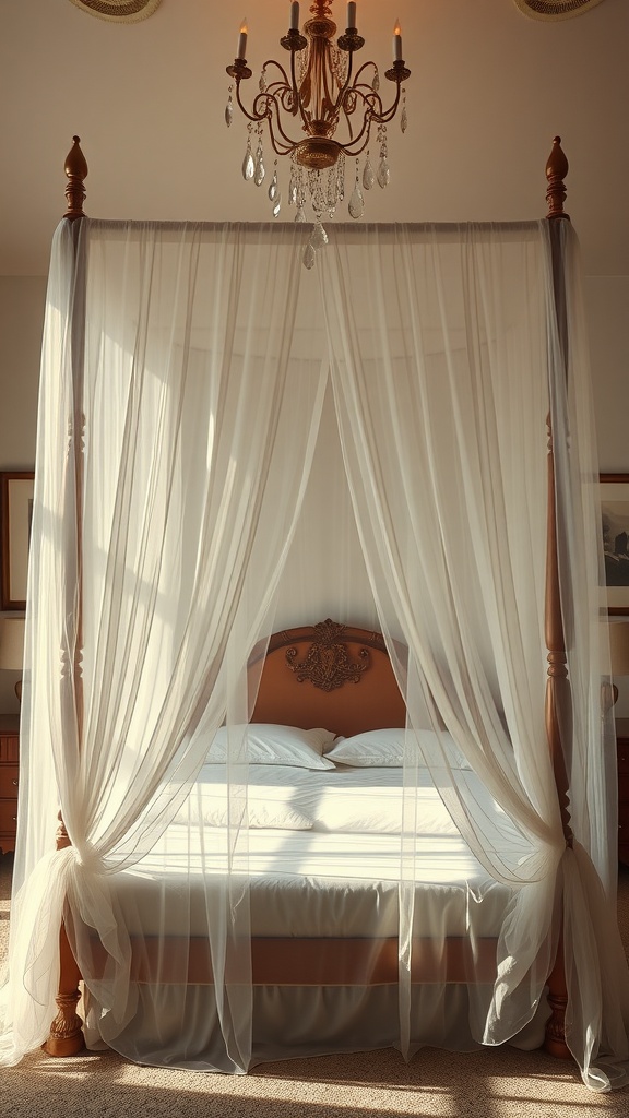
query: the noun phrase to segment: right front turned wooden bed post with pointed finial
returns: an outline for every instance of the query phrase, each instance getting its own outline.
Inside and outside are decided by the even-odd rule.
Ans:
[[[551,229],[553,252],[553,285],[557,328],[564,361],[567,356],[567,338],[565,321],[565,283],[560,246],[560,229],[557,219],[570,221],[564,211],[565,201],[564,178],[567,173],[567,160],[561,148],[561,136],[553,140],[553,150],[546,163],[548,189],[547,219],[553,222]],[[551,416],[546,420],[548,430],[547,459],[547,528],[546,528],[546,599],[545,599],[545,637],[548,652],[548,670],[546,680],[545,722],[548,747],[553,760],[553,771],[557,788],[560,812],[566,846],[572,846],[572,828],[570,825],[570,785],[565,764],[572,748],[572,693],[566,666],[565,618],[562,610],[558,576],[558,525],[555,500],[555,458],[553,452],[553,432]],[[571,1060],[572,1053],[565,1042],[565,1011],[567,989],[565,983],[565,961],[563,942],[563,919],[560,928],[557,954],[548,977],[548,1004],[551,1017],[546,1023],[544,1048],[551,1055]]]

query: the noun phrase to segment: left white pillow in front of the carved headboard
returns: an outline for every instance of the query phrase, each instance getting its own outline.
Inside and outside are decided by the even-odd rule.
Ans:
[[[236,728],[234,728],[236,729]],[[331,730],[301,730],[297,726],[275,726],[271,722],[252,722],[245,730],[246,759],[251,765],[292,765],[297,768],[330,769],[332,760],[323,750],[332,745]],[[216,733],[207,760],[212,764],[227,760],[227,727]]]

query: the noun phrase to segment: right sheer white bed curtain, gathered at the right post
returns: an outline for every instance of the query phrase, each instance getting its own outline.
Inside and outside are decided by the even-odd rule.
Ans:
[[[409,664],[397,665],[409,723],[430,731],[423,756],[470,847],[514,887],[496,986],[469,989],[472,1035],[497,1044],[533,1017],[556,950],[563,890],[566,953],[578,960],[567,968],[567,1040],[585,1081],[604,1089],[627,1074],[626,1063],[617,1064],[627,1061],[629,997],[610,873],[613,788],[600,762],[613,749],[600,701],[595,444],[586,345],[574,329],[582,312],[569,226],[562,238],[573,328],[567,388],[547,222],[353,230],[325,254],[322,291],[372,588],[392,653],[400,636],[409,647]],[[544,727],[550,397],[583,789],[574,851],[565,845]],[[466,769],[452,762],[443,731],[520,831],[526,853],[517,862],[473,799]],[[400,894],[401,1035],[409,1051],[426,1043],[425,1020],[434,1036],[447,988],[443,944],[443,985],[429,1006],[412,983],[419,757],[410,733]],[[585,785],[589,816],[580,805]]]

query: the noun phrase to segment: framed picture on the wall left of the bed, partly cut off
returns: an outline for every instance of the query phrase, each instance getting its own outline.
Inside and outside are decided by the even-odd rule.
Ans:
[[[26,609],[34,479],[32,471],[0,473],[2,609]]]

